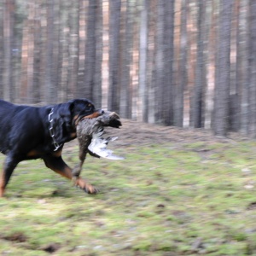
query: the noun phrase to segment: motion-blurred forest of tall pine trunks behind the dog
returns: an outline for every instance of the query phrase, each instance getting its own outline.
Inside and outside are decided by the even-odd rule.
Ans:
[[[0,97],[256,135],[256,1],[0,0]]]

